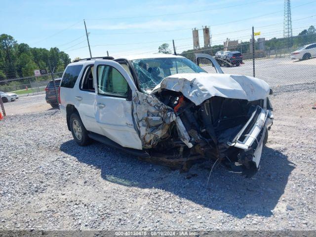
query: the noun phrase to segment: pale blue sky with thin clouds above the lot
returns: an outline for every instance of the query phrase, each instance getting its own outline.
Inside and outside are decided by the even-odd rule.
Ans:
[[[88,57],[155,53],[161,43],[192,49],[192,28],[210,26],[212,45],[249,40],[251,27],[270,39],[283,34],[283,0],[1,0],[1,34],[32,47],[59,47]],[[292,0],[293,33],[316,25],[316,0]],[[302,5],[305,4],[305,5]],[[302,5],[302,6],[299,6]],[[298,7],[297,7],[298,6]],[[202,46],[202,32],[199,32]]]

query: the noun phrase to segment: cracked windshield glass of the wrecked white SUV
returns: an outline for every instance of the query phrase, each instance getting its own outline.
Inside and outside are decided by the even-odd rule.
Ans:
[[[152,89],[162,79],[178,73],[205,73],[187,58],[144,58],[132,60],[140,87]]]

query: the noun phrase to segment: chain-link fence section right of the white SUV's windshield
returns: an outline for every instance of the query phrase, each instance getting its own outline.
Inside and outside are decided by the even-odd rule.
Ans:
[[[271,49],[271,40],[256,40],[254,43],[244,42],[227,46],[225,49],[216,47],[188,50],[181,55],[195,60],[195,53],[209,54],[216,58],[224,73],[263,79],[276,93],[282,91],[295,93],[301,89],[315,90],[316,34],[305,38],[281,38],[274,41],[277,47],[273,49]],[[252,47],[255,48],[254,53]],[[228,53],[229,51],[231,54]],[[201,60],[199,66],[208,73],[216,73],[209,60]]]

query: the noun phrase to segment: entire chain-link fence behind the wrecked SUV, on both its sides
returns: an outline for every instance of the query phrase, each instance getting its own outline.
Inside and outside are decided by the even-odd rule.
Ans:
[[[228,37],[229,35],[225,36]],[[236,45],[187,50],[181,55],[195,61],[195,53],[209,54],[216,58],[224,73],[263,79],[275,94],[284,91],[296,93],[305,89],[316,90],[316,33],[271,40],[253,38],[255,40]],[[202,60],[199,65],[209,73],[216,73],[210,61]],[[0,81],[0,91],[19,97],[12,99],[1,96],[6,114],[40,112],[58,107],[55,91],[61,77],[62,72],[59,72]],[[57,88],[54,83],[49,82],[53,78],[56,79]]]

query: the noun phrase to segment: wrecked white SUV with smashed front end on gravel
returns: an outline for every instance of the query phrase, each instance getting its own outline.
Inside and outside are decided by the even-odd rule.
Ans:
[[[89,58],[67,66],[60,108],[80,146],[97,140],[144,160],[188,170],[213,159],[251,177],[273,123],[269,85],[166,54]]]

